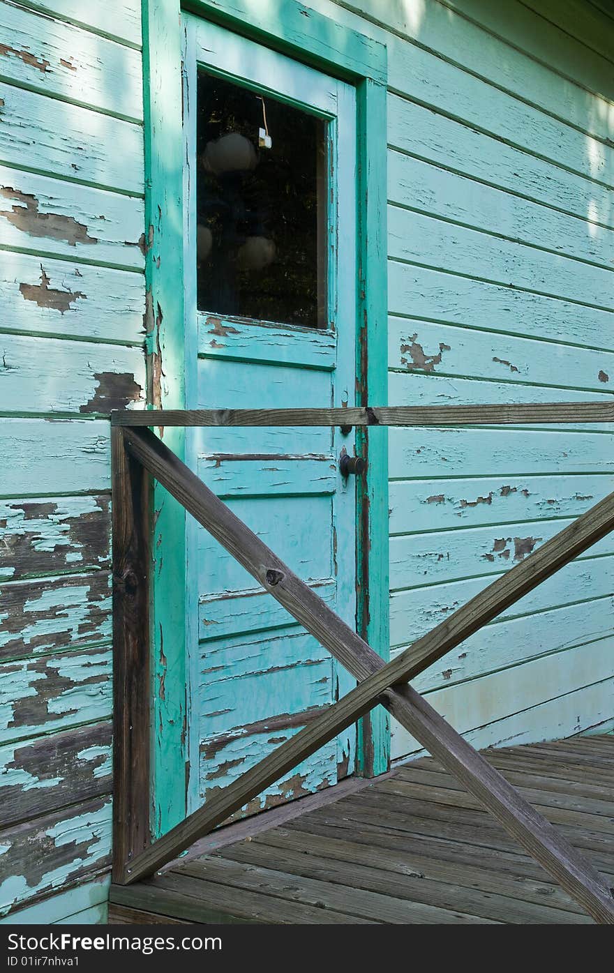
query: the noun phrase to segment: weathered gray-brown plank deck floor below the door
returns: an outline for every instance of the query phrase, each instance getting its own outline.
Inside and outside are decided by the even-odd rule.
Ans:
[[[614,737],[486,756],[614,885]],[[593,922],[434,760],[332,790],[344,796],[295,802],[281,824],[268,811],[112,886],[109,921]]]

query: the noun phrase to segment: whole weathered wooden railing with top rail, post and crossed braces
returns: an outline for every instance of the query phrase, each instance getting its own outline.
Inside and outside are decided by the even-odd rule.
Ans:
[[[614,403],[112,414],[116,883],[152,875],[378,703],[490,811],[598,922],[614,895],[593,866],[408,684],[614,528],[614,493],[399,655],[379,655],[284,564],[149,428],[612,422]],[[141,427],[141,428],[139,428]],[[149,478],[155,478],[357,680],[305,729],[150,845]]]

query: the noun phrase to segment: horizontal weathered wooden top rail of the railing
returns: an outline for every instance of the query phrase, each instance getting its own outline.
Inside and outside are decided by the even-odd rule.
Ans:
[[[207,409],[112,412],[125,426],[441,426],[524,422],[614,422],[614,402],[351,409]]]

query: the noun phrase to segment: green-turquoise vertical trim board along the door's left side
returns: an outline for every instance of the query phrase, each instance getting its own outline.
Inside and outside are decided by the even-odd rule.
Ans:
[[[142,0],[148,404],[185,408],[183,135],[179,3]],[[183,430],[164,441],[184,455]],[[153,837],[186,813],[185,511],[154,488],[151,585]]]

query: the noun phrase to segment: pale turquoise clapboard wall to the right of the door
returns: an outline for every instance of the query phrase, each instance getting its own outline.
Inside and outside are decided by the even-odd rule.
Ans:
[[[614,7],[310,5],[388,48],[390,404],[610,396]],[[393,657],[614,484],[604,427],[394,430],[389,457]],[[609,538],[416,687],[479,746],[610,730],[613,580]]]

